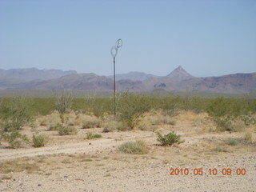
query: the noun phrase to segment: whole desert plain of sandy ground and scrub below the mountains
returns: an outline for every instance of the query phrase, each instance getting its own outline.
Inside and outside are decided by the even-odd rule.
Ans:
[[[253,98],[0,103],[0,191],[256,191]]]

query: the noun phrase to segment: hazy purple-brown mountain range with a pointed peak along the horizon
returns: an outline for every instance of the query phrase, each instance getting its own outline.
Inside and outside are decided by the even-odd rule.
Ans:
[[[196,78],[178,66],[170,74],[130,72],[116,75],[118,91],[194,91],[245,94],[256,91],[256,73]],[[113,76],[78,74],[74,70],[0,70],[0,90],[92,90],[112,91]]]

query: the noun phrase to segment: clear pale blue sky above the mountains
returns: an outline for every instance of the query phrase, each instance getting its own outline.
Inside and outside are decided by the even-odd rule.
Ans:
[[[256,72],[255,0],[0,0],[0,69]]]

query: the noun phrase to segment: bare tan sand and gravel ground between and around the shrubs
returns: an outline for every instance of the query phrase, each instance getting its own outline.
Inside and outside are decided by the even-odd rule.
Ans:
[[[70,114],[69,121],[74,116]],[[217,131],[207,114],[180,111],[171,117],[171,124],[154,122],[145,129],[103,132],[103,126],[82,129],[74,122],[78,134],[59,135],[49,130],[50,121],[59,121],[57,117],[39,117],[35,126],[22,130],[30,137],[34,132],[48,135],[46,146],[13,149],[2,142],[1,192],[256,191],[255,125],[231,133]],[[151,122],[161,118],[158,114],[146,117]],[[171,130],[182,135],[183,142],[161,146],[156,132],[167,134]],[[89,132],[102,138],[86,139]],[[237,143],[231,145],[232,139]],[[136,140],[146,142],[147,154],[126,154],[118,149],[122,143]],[[171,169],[180,173],[170,175]],[[189,172],[181,174],[185,169]],[[197,175],[199,169],[202,175]],[[215,175],[210,173],[214,169]],[[230,174],[226,174],[227,169]],[[242,169],[246,172],[241,174]]]

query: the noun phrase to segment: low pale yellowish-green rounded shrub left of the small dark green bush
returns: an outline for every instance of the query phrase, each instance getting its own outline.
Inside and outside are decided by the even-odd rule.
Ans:
[[[118,150],[126,154],[147,154],[146,143],[144,141],[136,142],[124,142],[121,146],[118,146]]]

